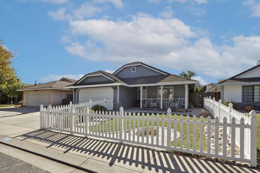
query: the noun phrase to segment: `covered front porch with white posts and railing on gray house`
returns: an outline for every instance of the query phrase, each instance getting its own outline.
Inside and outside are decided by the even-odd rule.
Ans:
[[[137,87],[140,108],[188,108],[188,84]]]

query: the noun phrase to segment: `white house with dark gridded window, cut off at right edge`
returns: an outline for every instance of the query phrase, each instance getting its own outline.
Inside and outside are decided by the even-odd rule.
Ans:
[[[235,101],[239,109],[251,105],[254,109],[260,107],[260,63],[256,63],[239,74],[216,84],[221,87],[221,99]]]

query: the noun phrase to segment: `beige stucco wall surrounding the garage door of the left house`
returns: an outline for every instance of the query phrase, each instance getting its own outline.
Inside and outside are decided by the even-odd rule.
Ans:
[[[67,94],[72,94],[72,90],[58,90],[58,89],[41,89],[40,91],[48,91],[48,104],[50,105],[60,105],[61,99],[60,97],[63,96],[63,98],[66,98]],[[27,90],[23,91],[23,105],[28,105],[28,93],[29,92],[35,92],[35,90]],[[46,105],[44,105],[46,106]]]

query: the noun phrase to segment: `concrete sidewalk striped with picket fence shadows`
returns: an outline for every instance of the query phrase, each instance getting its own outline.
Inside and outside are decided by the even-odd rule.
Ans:
[[[7,134],[0,137],[0,142],[67,162],[87,171],[260,172],[256,168],[45,130]]]

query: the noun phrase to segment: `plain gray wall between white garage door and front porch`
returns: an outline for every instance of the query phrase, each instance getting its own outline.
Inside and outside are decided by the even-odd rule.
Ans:
[[[119,102],[122,103],[123,108],[136,106],[137,87],[119,86]]]

